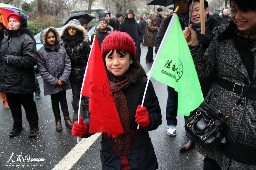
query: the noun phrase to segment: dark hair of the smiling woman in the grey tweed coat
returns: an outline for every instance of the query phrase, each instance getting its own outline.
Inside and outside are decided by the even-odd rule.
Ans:
[[[231,1],[234,1],[237,5],[237,7],[239,7],[240,10],[242,10],[243,12],[248,12],[250,10],[252,11],[256,11],[256,1],[255,0],[226,0],[225,4],[227,7],[227,4],[229,3],[229,5],[231,4]]]

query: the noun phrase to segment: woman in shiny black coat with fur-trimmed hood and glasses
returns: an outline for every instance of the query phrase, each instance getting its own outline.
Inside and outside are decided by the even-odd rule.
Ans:
[[[77,19],[73,19],[63,27],[61,33],[61,45],[66,49],[71,61],[70,83],[72,87],[73,101],[71,102],[74,115],[73,121],[77,121],[80,91],[83,83],[83,76],[90,53],[89,41],[86,30],[80,25]],[[89,113],[89,98],[82,96],[81,106],[85,118]]]

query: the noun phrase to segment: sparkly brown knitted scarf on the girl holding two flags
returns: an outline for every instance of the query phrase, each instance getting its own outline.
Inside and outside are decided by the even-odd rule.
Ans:
[[[117,112],[123,127],[123,133],[112,139],[112,152],[117,155],[129,155],[133,148],[133,140],[130,130],[129,111],[127,106],[126,96],[123,90],[130,86],[127,80],[113,83],[109,82],[112,94],[114,95]]]

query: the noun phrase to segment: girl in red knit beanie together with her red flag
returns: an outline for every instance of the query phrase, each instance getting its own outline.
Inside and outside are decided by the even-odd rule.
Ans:
[[[147,78],[135,56],[135,43],[125,32],[110,33],[101,51],[94,36],[81,91],[90,98],[90,114],[74,122],[72,135],[102,132],[102,169],[158,169],[148,131],[161,124],[161,109],[151,82],[141,106]]]

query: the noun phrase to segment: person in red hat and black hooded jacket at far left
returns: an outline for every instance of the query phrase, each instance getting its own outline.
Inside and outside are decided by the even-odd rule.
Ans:
[[[0,92],[5,92],[13,117],[10,137],[16,136],[22,126],[21,105],[26,111],[30,126],[29,137],[38,135],[38,114],[33,100],[35,88],[34,65],[36,64],[36,44],[26,34],[27,17],[22,12],[8,16],[6,38],[0,49]]]

